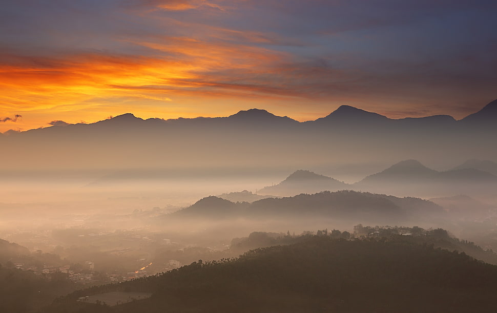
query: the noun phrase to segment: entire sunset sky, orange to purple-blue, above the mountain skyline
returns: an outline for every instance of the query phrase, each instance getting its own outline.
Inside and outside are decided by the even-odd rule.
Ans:
[[[4,0],[0,132],[340,105],[460,119],[497,98],[497,2]]]

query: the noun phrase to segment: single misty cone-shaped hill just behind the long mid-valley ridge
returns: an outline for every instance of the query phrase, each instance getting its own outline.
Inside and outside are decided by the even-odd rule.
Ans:
[[[258,194],[294,196],[301,193],[317,193],[325,190],[337,191],[347,187],[348,184],[334,178],[310,171],[298,170],[279,184],[262,188],[258,191]]]

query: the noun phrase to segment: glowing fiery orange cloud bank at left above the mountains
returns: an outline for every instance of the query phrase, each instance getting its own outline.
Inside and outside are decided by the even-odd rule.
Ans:
[[[107,110],[100,112],[100,117],[116,115],[122,113],[115,111],[117,107],[123,110],[127,105],[135,108],[130,109],[135,113],[167,112],[169,107],[178,106],[175,101],[191,102],[192,97],[201,101],[205,97],[288,96],[278,87],[252,79],[269,73],[275,62],[287,58],[284,53],[189,37],[134,44],[149,49],[150,56],[2,55],[0,116],[21,113],[26,116],[24,129],[30,129],[54,118],[70,123],[92,121],[89,111],[96,116],[99,110]],[[33,114],[43,117],[29,118]],[[0,127],[0,131],[7,130]]]

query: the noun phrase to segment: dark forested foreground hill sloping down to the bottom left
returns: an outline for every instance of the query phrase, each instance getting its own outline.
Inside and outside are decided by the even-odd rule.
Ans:
[[[77,297],[149,291],[107,307]],[[259,248],[237,260],[79,291],[44,312],[494,312],[497,266],[402,240],[313,236]]]

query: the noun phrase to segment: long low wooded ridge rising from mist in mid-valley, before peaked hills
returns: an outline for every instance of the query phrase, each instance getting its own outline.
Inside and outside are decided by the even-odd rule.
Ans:
[[[244,218],[407,223],[433,221],[444,217],[445,212],[441,206],[419,198],[398,198],[355,191],[325,191],[312,195],[266,198],[252,203],[234,203],[210,196],[160,219],[173,222]]]

